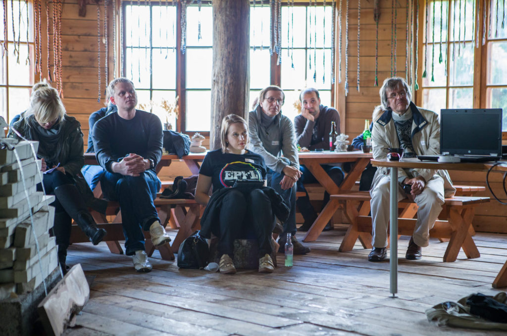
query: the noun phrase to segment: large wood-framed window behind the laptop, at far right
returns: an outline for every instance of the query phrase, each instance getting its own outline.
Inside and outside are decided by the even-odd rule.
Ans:
[[[483,2],[427,1],[419,21],[424,25],[427,15],[427,41],[422,39],[426,59],[423,56],[419,67],[419,76],[424,70],[427,76],[419,81],[420,105],[437,113],[441,108],[503,108],[503,129],[507,130],[507,26],[501,28],[502,5],[487,3],[488,19],[484,25],[483,14],[477,16],[479,7],[479,13],[484,13]],[[483,45],[484,26],[487,31]],[[481,53],[486,55],[482,64],[477,56]],[[482,73],[486,73],[486,83],[481,82]]]

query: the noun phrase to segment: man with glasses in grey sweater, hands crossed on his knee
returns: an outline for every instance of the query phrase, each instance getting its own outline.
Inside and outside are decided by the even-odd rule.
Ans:
[[[278,251],[285,251],[287,233],[290,233],[294,254],[306,254],[310,248],[296,239],[296,182],[301,171],[294,125],[281,114],[284,99],[283,90],[277,86],[268,86],[259,93],[257,106],[248,114],[249,148],[264,158],[268,167],[268,186],[281,195],[291,210],[283,223]]]

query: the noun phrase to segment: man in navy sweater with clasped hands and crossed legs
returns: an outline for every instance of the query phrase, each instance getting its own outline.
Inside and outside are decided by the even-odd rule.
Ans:
[[[132,255],[137,272],[150,272],[142,230],[150,232],[153,245],[171,240],[153,204],[161,186],[155,167],[162,158],[162,124],[156,115],[135,109],[132,81],[114,79],[107,90],[118,112],[93,127],[95,156],[105,170],[100,185],[106,198],[120,203],[125,254]]]

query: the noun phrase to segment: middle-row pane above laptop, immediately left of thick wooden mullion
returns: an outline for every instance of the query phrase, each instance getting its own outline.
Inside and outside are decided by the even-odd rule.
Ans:
[[[473,43],[467,43],[461,51],[458,52],[458,44],[450,46],[451,60],[452,53],[455,52],[455,59],[449,64],[449,86],[455,85],[474,85],[474,48]]]

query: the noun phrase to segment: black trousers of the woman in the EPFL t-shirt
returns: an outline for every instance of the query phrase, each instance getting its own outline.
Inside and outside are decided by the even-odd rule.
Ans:
[[[271,253],[275,217],[269,197],[260,189],[231,190],[220,209],[220,255],[234,252],[234,240],[253,238],[259,243],[259,257]]]

